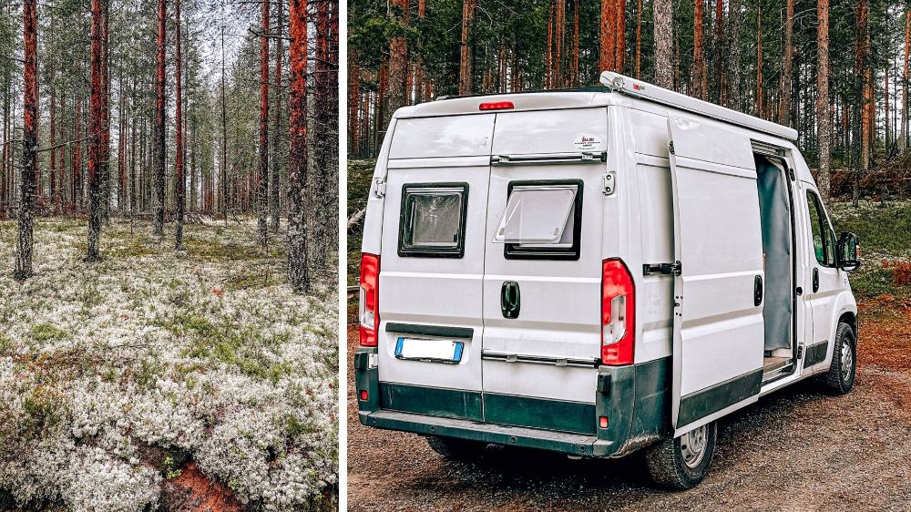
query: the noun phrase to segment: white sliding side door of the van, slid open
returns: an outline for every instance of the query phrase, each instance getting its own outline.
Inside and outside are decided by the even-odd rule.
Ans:
[[[674,435],[758,400],[763,233],[750,138],[670,117]]]

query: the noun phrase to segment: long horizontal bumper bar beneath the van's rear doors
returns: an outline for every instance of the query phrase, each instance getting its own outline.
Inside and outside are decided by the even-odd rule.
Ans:
[[[573,456],[609,456],[615,450],[611,441],[599,440],[595,435],[551,432],[521,426],[491,425],[470,420],[415,415],[379,409],[360,411],[361,423],[376,428],[401,430],[420,435],[444,435],[471,439],[495,445],[538,448]]]

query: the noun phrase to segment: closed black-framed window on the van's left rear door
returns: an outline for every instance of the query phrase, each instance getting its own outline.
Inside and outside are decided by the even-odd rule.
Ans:
[[[399,216],[399,256],[461,258],[467,183],[406,183]]]

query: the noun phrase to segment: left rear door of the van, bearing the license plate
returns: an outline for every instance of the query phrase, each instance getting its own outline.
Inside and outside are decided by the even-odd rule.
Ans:
[[[494,114],[402,118],[387,161],[380,406],[480,421],[487,181]]]

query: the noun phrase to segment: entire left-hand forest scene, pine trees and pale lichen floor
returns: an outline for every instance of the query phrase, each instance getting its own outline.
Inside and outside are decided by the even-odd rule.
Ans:
[[[333,509],[335,0],[0,0],[0,509]]]

